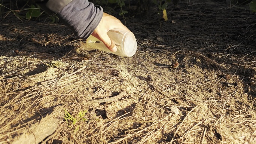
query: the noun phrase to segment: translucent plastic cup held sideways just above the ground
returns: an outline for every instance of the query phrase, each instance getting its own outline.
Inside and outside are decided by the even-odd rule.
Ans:
[[[119,56],[133,56],[137,50],[137,42],[135,36],[130,31],[119,29],[110,30],[107,35],[116,44],[117,51],[110,51],[100,40],[94,36],[89,36],[86,42],[80,41],[81,46],[85,50],[103,50],[105,52],[113,53]]]

